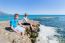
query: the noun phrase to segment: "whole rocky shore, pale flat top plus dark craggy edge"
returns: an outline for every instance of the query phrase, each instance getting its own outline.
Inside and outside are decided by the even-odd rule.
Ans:
[[[18,35],[12,30],[6,30],[5,28],[9,25],[9,21],[0,22],[0,43],[35,43],[39,32],[39,24],[33,25],[32,30],[28,27],[24,36]]]

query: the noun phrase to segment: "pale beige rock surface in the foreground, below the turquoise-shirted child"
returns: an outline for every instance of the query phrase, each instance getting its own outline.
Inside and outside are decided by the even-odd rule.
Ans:
[[[9,32],[1,29],[0,43],[31,43],[27,35],[17,35],[15,32]]]

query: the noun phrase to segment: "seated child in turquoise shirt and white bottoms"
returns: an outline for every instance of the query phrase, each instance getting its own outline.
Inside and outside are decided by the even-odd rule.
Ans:
[[[24,35],[25,29],[23,27],[21,27],[20,25],[18,25],[19,24],[18,18],[19,18],[19,15],[15,14],[14,19],[11,19],[11,21],[10,21],[10,27],[12,30],[14,30],[18,34]]]

